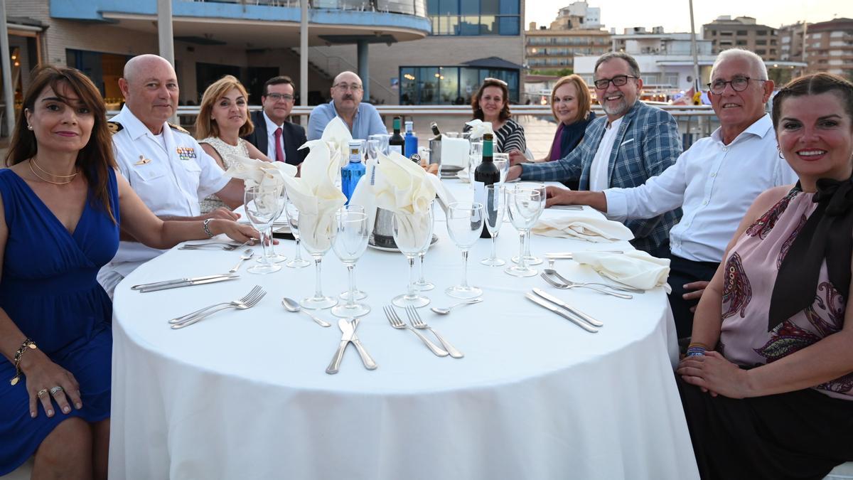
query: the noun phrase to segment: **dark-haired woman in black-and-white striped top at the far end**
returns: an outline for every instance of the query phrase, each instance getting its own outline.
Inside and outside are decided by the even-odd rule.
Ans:
[[[477,95],[471,97],[474,119],[491,122],[495,132],[495,152],[509,153],[518,150],[522,154],[527,149],[525,129],[510,117],[509,91],[507,82],[499,79],[485,79]],[[465,126],[462,132],[471,130]]]

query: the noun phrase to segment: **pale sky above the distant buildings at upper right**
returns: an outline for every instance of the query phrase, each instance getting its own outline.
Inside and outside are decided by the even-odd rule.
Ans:
[[[557,12],[574,0],[525,0],[525,29],[531,21],[537,26],[548,26]],[[690,32],[690,4],[688,0],[587,0],[590,7],[601,9],[601,23],[617,33],[631,26],[663,26],[664,32]],[[629,6],[630,5],[630,6]],[[809,23],[832,20],[833,17],[853,18],[853,1],[850,0],[693,0],[693,18],[696,32],[702,24],[710,23],[720,15],[751,16],[759,24],[778,28],[781,25],[806,20]]]

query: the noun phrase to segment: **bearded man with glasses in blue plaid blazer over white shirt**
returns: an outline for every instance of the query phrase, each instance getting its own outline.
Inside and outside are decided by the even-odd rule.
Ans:
[[[606,116],[589,122],[583,140],[557,161],[511,167],[508,179],[577,181],[579,190],[630,188],[644,184],[675,163],[682,153],[676,120],[660,108],[639,102],[642,80],[634,57],[610,52],[595,61],[595,96]],[[663,257],[679,208],[646,220],[627,220],[636,249]]]

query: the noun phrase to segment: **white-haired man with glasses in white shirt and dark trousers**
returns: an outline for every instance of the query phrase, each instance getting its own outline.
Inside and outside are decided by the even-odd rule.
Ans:
[[[693,329],[693,310],[717,271],[728,242],[755,198],[797,176],[778,155],[764,104],[773,81],[761,57],[724,50],[711,67],[711,106],[720,127],[701,138],[658,177],[631,189],[552,189],[548,204],[590,205],[612,220],[645,219],[682,207],[670,231],[670,306],[679,338]]]

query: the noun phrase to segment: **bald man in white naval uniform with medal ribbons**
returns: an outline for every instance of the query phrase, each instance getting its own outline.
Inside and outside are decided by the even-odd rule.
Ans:
[[[216,194],[231,208],[243,202],[242,180],[223,174],[199,143],[180,126],[167,123],[177,109],[177,75],[164,58],[142,55],[125,65],[119,88],[125,107],[110,120],[119,171],[142,202],[163,220],[236,220],[227,208],[200,214],[199,199]],[[120,213],[119,213],[120,214]],[[122,231],[119,251],[98,272],[110,297],[119,282],[142,263],[163,253]]]

